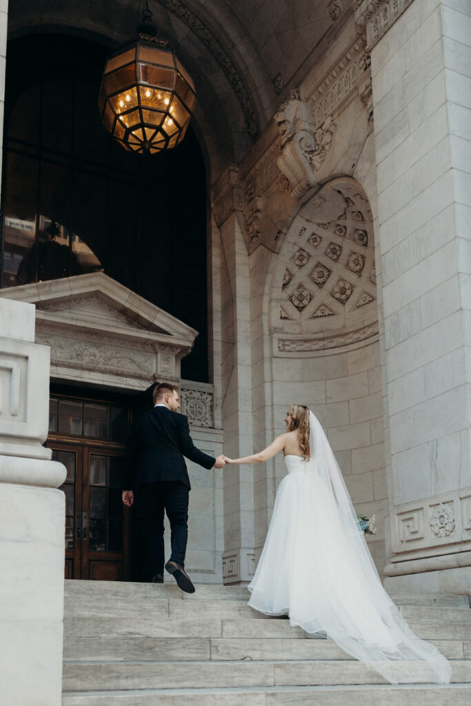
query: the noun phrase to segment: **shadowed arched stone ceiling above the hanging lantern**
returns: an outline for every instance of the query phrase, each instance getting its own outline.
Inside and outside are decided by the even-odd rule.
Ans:
[[[157,28],[196,80],[196,121],[213,165],[242,159],[270,122],[280,94],[301,80],[307,57],[333,25],[331,5],[329,0],[150,0]],[[16,0],[9,7],[8,32],[16,37],[68,28],[99,35],[114,47],[134,34],[142,8],[143,0]]]

